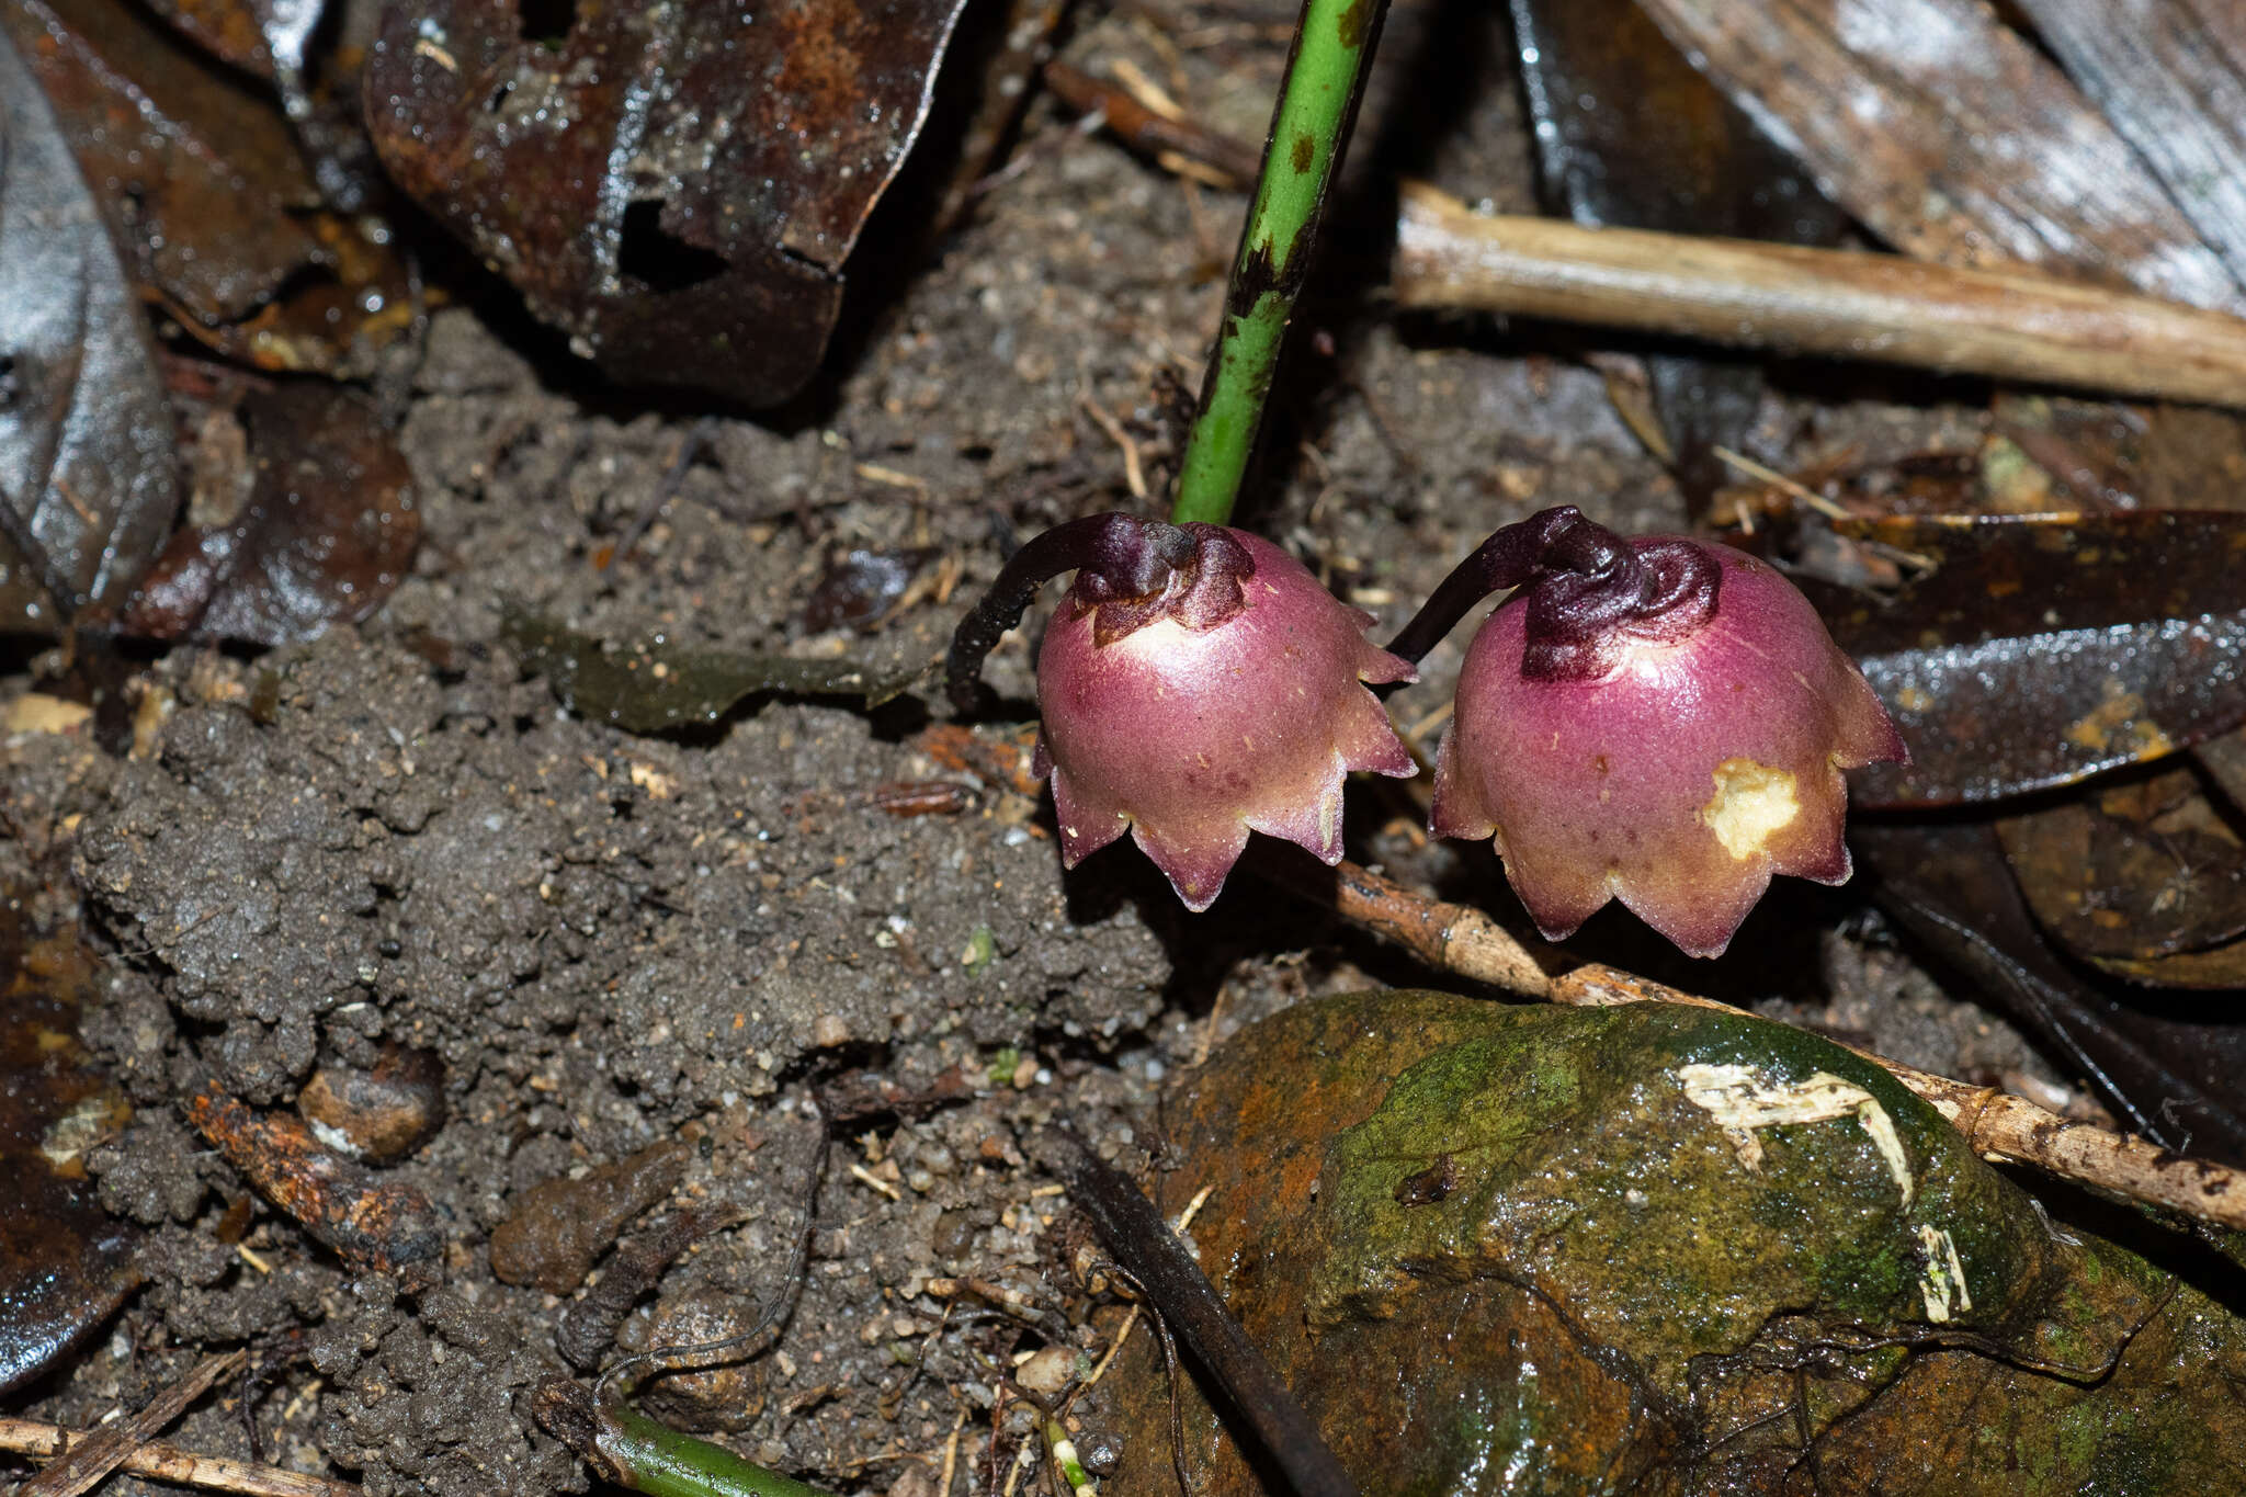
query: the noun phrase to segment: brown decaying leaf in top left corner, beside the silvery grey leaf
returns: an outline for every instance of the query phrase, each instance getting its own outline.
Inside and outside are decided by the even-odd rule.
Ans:
[[[121,0],[0,0],[0,29],[184,332],[258,368],[364,375],[411,323],[386,231],[321,206],[276,101]]]

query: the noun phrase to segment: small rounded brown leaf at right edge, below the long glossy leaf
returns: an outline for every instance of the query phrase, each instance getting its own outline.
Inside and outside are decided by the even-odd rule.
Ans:
[[[2246,934],[2246,844],[2199,792],[2194,770],[2087,786],[2062,806],[2003,817],[1997,830],[2035,918],[2075,956],[2127,976],[2199,956],[2163,981],[2188,972],[2201,981],[2181,985],[2246,981],[2246,954],[2208,952]]]

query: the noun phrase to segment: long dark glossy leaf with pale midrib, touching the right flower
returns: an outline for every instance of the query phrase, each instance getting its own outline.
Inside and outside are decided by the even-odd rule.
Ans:
[[[1896,716],[1909,765],[1851,777],[1857,806],[2064,786],[2246,720],[2246,518],[2181,509],[1851,521],[1925,557],[1896,595],[1806,581]]]

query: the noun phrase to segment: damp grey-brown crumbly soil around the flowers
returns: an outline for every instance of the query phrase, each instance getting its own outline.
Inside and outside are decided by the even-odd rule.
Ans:
[[[1114,16],[1067,52],[1096,72],[1134,61],[1253,137],[1285,20],[1229,7],[1179,47]],[[1687,521],[1574,341],[1397,319],[1363,290],[1379,267],[1363,224],[1393,222],[1399,175],[1532,209],[1503,45],[1487,7],[1397,7],[1384,67],[1433,85],[1390,85],[1368,112],[1244,514],[1381,628],[1536,507]],[[1242,200],[1071,126],[1035,105],[966,224],[932,251],[874,251],[829,382],[777,420],[716,413],[629,550],[712,413],[600,388],[503,294],[458,287],[404,402],[427,539],[391,604],[301,649],[146,662],[128,756],[83,732],[7,741],[0,873],[101,952],[85,1037],[135,1115],[90,1167],[148,1230],[146,1286],[18,1412],[85,1423],[249,1342],[270,1376],[204,1400],[175,1443],[247,1454],[254,1425],[267,1457],[375,1497],[586,1490],[528,1392],[575,1371],[557,1329],[615,1259],[562,1223],[544,1246],[519,1230],[535,1268],[510,1284],[494,1234],[546,1181],[676,1145],[642,1225],[694,1210],[732,1225],[636,1302],[622,1342],[746,1331],[791,1293],[824,1100],[847,1115],[793,1313],[770,1349],[672,1378],[651,1407],[838,1493],[934,1493],[948,1450],[982,1481],[1015,1360],[1092,1353],[1119,1313],[1069,1273],[1076,1228],[1035,1133],[1074,1120],[1139,1163],[1163,1077],[1240,1023],[1305,994],[1440,983],[1251,871],[1199,918],[1121,846],[1065,875],[1049,801],[990,768],[1031,716],[1035,615],[990,662],[995,707],[970,725],[990,754],[968,759],[930,736],[952,720],[930,678],[874,711],[755,696],[638,736],[564,709],[505,642],[519,608],[609,640],[916,669],[1008,536],[1136,503],[1132,471],[1159,492]],[[1893,397],[1792,393],[1765,456],[1853,442],[1878,462],[1963,431]],[[809,633],[851,550],[919,561],[867,626]],[[1437,651],[1395,698],[1426,747],[1455,660]],[[22,669],[4,696],[31,685]],[[896,790],[912,781],[948,788]],[[1352,855],[1518,920],[1489,851],[1428,846],[1422,819],[1408,788],[1352,788]],[[1586,949],[1923,1066],[2048,1080],[1846,891],[1783,891],[1718,965],[1669,967],[1617,916]],[[314,1068],[368,1066],[391,1041],[442,1062],[442,1127],[384,1169],[442,1216],[436,1284],[355,1273],[175,1111],[211,1077],[281,1109]]]

